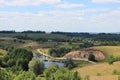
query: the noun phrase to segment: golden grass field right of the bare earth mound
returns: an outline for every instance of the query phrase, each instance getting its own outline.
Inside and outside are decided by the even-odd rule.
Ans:
[[[114,57],[120,56],[120,46],[98,46],[93,48],[102,51],[106,57],[111,55]]]

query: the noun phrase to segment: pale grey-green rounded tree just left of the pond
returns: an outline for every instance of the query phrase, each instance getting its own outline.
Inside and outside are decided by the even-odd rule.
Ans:
[[[44,71],[43,61],[37,58],[33,58],[29,62],[29,70],[34,72],[36,75],[42,74]]]

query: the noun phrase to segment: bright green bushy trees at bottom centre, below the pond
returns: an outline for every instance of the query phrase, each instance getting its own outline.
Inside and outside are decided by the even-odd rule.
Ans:
[[[49,66],[44,75],[46,80],[81,80],[77,72],[71,72],[67,68],[59,68],[58,65]]]

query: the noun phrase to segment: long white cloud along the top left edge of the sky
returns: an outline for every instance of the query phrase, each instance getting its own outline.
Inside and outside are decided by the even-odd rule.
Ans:
[[[56,4],[61,0],[0,0],[0,6],[37,6],[40,4]]]

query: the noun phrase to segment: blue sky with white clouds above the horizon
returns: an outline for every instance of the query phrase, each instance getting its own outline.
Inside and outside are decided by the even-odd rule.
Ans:
[[[0,0],[0,30],[120,32],[120,0]]]

